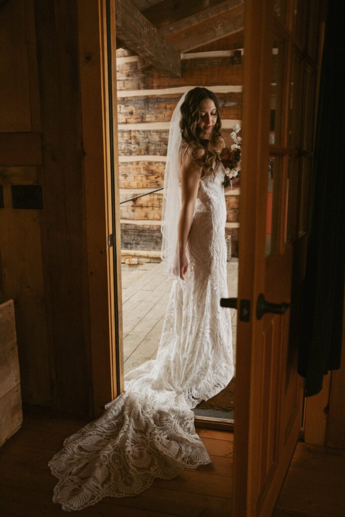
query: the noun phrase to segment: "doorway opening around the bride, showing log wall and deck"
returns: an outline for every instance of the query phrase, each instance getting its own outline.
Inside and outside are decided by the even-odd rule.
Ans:
[[[172,286],[160,259],[162,186],[172,112],[183,93],[204,84],[208,70],[212,81],[206,87],[219,100],[221,135],[230,148],[233,127],[241,126],[242,55],[243,31],[199,45],[181,54],[181,79],[164,77],[163,85],[153,67],[140,68],[134,52],[125,47],[116,51],[125,375],[155,359]],[[238,187],[225,193],[230,297],[237,296],[239,193]],[[235,366],[237,315],[235,309],[230,311]],[[233,378],[229,389],[200,404],[194,411],[196,420],[203,424],[220,420],[231,426],[234,385]]]

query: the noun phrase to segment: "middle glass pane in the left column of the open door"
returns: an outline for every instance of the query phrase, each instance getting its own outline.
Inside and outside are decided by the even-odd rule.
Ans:
[[[285,44],[275,38],[272,49],[272,83],[271,83],[271,124],[269,128],[269,143],[283,143],[283,93],[284,70],[286,70]]]

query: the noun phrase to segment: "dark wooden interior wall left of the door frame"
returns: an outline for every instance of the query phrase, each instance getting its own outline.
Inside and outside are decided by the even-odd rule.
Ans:
[[[86,414],[91,374],[76,2],[3,2],[0,25],[0,296],[14,300],[22,400]],[[13,208],[14,185],[41,186],[42,208]]]

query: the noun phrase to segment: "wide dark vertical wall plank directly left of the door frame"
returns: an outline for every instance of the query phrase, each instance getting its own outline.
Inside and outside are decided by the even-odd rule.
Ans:
[[[44,121],[41,305],[53,376],[49,389],[55,407],[87,414],[91,372],[76,2],[35,1],[35,23]],[[33,358],[41,360],[40,354]],[[31,375],[40,382],[36,370]]]

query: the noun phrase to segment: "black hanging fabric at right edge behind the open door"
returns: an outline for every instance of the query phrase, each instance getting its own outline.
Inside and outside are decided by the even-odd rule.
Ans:
[[[322,56],[313,159],[298,373],[305,395],[322,388],[328,370],[340,368],[345,264],[345,74],[342,2],[329,0]]]

